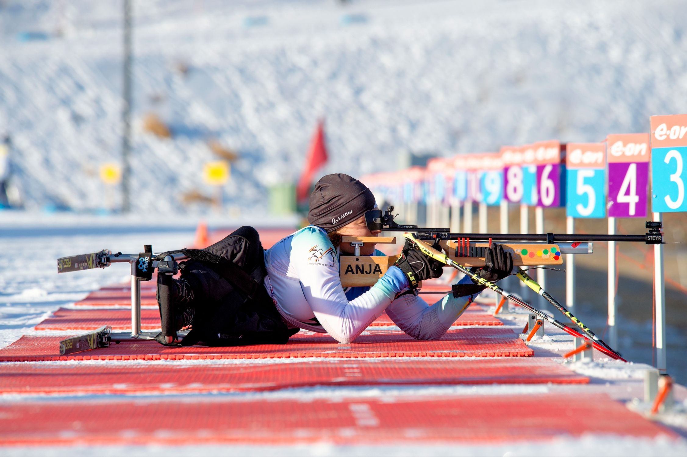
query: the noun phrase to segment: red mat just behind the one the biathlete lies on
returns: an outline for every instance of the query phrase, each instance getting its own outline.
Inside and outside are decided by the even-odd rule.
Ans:
[[[67,309],[60,308],[40,324],[35,330],[76,330],[90,331],[109,325],[115,331],[131,329],[130,309]],[[388,327],[394,322],[382,314],[370,326]],[[504,325],[501,320],[484,313],[479,307],[471,307],[453,325]],[[144,331],[160,329],[160,314],[157,308],[141,309],[141,329]]]

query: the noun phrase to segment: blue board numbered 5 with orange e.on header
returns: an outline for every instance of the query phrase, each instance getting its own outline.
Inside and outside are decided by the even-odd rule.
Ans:
[[[605,143],[567,143],[565,213],[571,218],[606,215]]]

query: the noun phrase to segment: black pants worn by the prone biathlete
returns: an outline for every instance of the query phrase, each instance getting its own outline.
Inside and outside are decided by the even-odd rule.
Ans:
[[[258,282],[250,298],[234,288],[232,278],[223,277],[212,263],[183,262],[181,278],[188,279],[194,290],[192,329],[183,345],[201,343],[209,346],[245,344],[284,344],[298,329],[289,330],[277,311],[263,281],[264,250],[256,229],[243,226],[205,250],[234,262]]]

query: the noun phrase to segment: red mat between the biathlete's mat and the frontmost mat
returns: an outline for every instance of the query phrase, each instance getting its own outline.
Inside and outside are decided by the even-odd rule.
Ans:
[[[114,364],[113,364],[114,363]],[[3,394],[184,394],[312,386],[587,384],[549,358],[321,360],[262,364],[0,364]]]

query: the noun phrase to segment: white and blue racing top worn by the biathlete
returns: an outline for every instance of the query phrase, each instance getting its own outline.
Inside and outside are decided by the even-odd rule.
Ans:
[[[376,253],[376,255],[383,255]],[[407,279],[392,266],[372,287],[343,289],[337,250],[326,231],[307,226],[281,239],[264,253],[264,286],[289,327],[329,333],[352,342],[386,311],[405,333],[418,340],[441,338],[464,312],[467,297],[447,294],[430,306],[403,294]],[[461,283],[471,283],[464,278]]]

